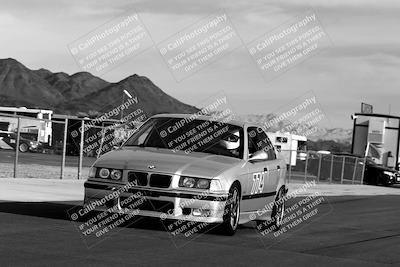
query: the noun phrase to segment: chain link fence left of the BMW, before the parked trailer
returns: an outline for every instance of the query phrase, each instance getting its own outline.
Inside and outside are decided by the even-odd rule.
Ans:
[[[49,120],[1,113],[0,178],[87,177],[96,157],[112,149],[111,141],[104,137],[114,133],[107,126],[85,128],[88,121],[66,116]],[[89,140],[93,132],[102,134],[95,134],[96,140]],[[95,142],[100,149],[93,149]]]

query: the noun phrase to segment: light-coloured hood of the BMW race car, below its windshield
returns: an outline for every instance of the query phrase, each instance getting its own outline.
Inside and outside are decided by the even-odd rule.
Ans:
[[[192,152],[172,152],[169,149],[129,147],[108,152],[95,163],[96,167],[150,171],[198,177],[216,177],[242,160]]]

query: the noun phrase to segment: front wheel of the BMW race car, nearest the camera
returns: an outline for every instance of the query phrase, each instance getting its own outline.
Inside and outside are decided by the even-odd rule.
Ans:
[[[229,189],[228,201],[224,209],[224,222],[220,229],[224,235],[232,236],[235,234],[239,224],[240,216],[240,189],[237,184],[233,184]]]

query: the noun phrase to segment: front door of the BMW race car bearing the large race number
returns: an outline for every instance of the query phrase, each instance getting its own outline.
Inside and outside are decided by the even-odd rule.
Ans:
[[[242,210],[255,211],[274,200],[281,167],[273,146],[262,129],[248,127],[247,139],[248,175],[242,197]],[[249,160],[256,154],[263,154],[264,158]]]

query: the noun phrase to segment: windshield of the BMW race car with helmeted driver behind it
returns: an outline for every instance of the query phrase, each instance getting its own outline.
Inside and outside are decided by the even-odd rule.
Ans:
[[[156,147],[185,153],[204,152],[243,158],[243,128],[231,124],[182,118],[153,118],[123,146]]]

